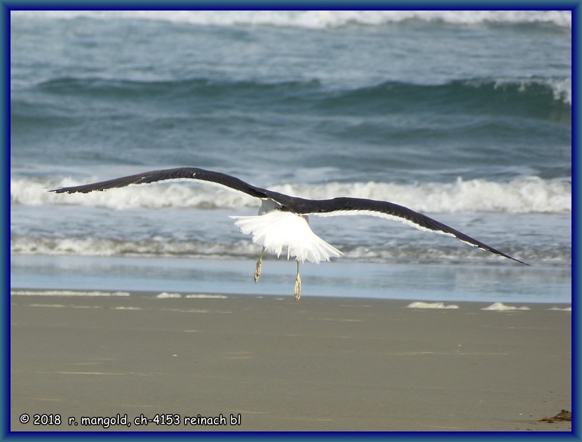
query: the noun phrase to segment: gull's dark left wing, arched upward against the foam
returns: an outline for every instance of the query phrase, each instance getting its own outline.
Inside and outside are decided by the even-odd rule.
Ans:
[[[54,189],[51,192],[57,194],[67,193],[74,194],[77,192],[86,194],[95,190],[107,190],[114,187],[126,187],[132,184],[147,184],[150,182],[163,180],[179,180],[180,178],[188,178],[191,180],[200,180],[210,182],[215,185],[227,187],[236,192],[242,192],[254,196],[255,198],[266,198],[266,190],[260,187],[252,186],[243,180],[226,175],[226,173],[212,172],[210,170],[198,169],[194,167],[182,167],[175,169],[151,170],[149,172],[137,173],[127,177],[114,178],[113,180],[93,182],[87,185],[74,187],[61,187]]]

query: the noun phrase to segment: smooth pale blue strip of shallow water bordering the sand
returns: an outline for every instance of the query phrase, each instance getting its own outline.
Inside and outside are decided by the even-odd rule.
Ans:
[[[140,257],[13,256],[11,286],[34,289],[153,290],[288,295],[295,262]],[[324,262],[301,267],[303,296],[479,302],[571,302],[571,270],[447,264]]]

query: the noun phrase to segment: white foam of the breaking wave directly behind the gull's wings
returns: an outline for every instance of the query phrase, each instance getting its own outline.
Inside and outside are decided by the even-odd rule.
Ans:
[[[102,178],[96,178],[96,180]],[[11,204],[95,206],[126,208],[241,208],[257,207],[250,196],[191,182],[135,185],[107,192],[55,194],[48,189],[80,185],[93,180],[70,178],[11,178]],[[203,187],[201,187],[203,186]],[[452,183],[402,185],[392,182],[327,182],[282,184],[270,189],[309,199],[337,196],[391,201],[425,213],[571,213],[571,181],[517,178],[509,182],[462,180]]]

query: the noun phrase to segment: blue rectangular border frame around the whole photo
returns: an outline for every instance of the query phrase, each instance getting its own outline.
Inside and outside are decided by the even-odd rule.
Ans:
[[[581,156],[579,154],[580,149],[580,133],[578,128],[580,127],[581,116],[580,116],[580,89],[578,88],[578,74],[580,73],[579,62],[580,62],[580,51],[581,46],[580,41],[580,23],[582,19],[582,0],[574,1],[527,1],[527,0],[513,0],[513,1],[503,1],[503,0],[481,0],[481,1],[438,1],[438,0],[425,0],[425,1],[382,1],[382,0],[367,0],[361,3],[353,1],[341,1],[341,0],[318,0],[318,1],[236,1],[236,0],[216,0],[216,1],[180,1],[172,0],[168,2],[157,1],[116,1],[116,0],[100,0],[100,1],[42,1],[42,0],[0,0],[0,32],[1,32],[1,55],[2,55],[2,69],[0,71],[1,79],[1,166],[3,167],[3,174],[1,175],[2,180],[2,192],[1,192],[1,207],[4,211],[1,217],[1,246],[4,250],[4,266],[2,266],[2,284],[4,288],[4,296],[1,298],[0,304],[0,314],[1,314],[1,332],[0,332],[0,342],[1,342],[1,354],[4,355],[2,359],[3,363],[0,364],[0,394],[1,394],[1,405],[0,405],[0,438],[18,438],[20,440],[25,439],[36,439],[36,438],[77,438],[79,434],[77,433],[65,433],[65,432],[50,432],[50,433],[30,433],[30,432],[18,432],[12,433],[9,431],[10,428],[10,367],[5,361],[10,360],[10,277],[8,270],[9,262],[9,229],[8,229],[8,217],[10,213],[9,206],[9,194],[8,189],[10,189],[10,11],[11,10],[67,10],[67,9],[111,9],[111,10],[132,10],[132,9],[165,9],[172,10],[178,8],[191,8],[191,9],[234,9],[234,8],[244,8],[244,9],[331,9],[331,10],[342,10],[342,9],[451,9],[451,10],[482,10],[482,9],[496,9],[496,10],[569,10],[572,11],[572,70],[573,70],[573,81],[572,81],[572,163],[574,168],[574,173],[572,175],[572,181],[574,185],[574,204],[572,212],[572,222],[574,229],[572,232],[572,245],[573,245],[573,262],[574,262],[574,272],[572,272],[572,307],[573,307],[573,321],[572,321],[572,432],[571,433],[527,433],[528,438],[568,438],[574,440],[580,440],[580,423],[578,417],[581,415],[579,413],[579,383],[576,374],[579,373],[581,368],[579,358],[580,358],[580,342],[578,341],[578,336],[580,333],[580,326],[578,324],[579,318],[579,305],[576,294],[578,293],[578,274],[582,271],[582,266],[578,260],[578,250],[580,250],[580,238],[578,232],[576,232],[576,227],[578,226],[579,220],[579,204],[578,198],[579,185],[578,180],[578,170],[580,169]],[[535,387],[535,386],[532,386]],[[297,436],[296,434],[285,434],[285,433],[235,433],[235,434],[196,434],[196,438],[246,438],[246,439],[257,439],[257,438],[304,438],[305,436],[313,437],[326,437],[326,438],[390,438],[394,439],[412,439],[412,438],[428,438],[428,437],[443,437],[447,439],[452,438],[466,438],[470,435],[471,438],[480,439],[493,439],[499,438],[500,436],[511,435],[513,437],[524,437],[522,433],[420,433],[420,434],[410,434],[410,433],[372,433],[372,434],[352,434],[352,433],[307,433]],[[192,438],[193,435],[187,432],[177,432],[177,433],[121,433],[121,432],[95,432],[86,433],[83,432],[83,438],[111,438],[119,436],[120,438],[128,437],[139,437],[139,438],[158,438],[160,440],[167,439],[169,437],[181,437],[181,438]]]

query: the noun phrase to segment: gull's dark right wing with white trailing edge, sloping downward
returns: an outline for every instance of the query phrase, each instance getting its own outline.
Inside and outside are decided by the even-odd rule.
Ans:
[[[269,191],[267,191],[269,192]],[[285,195],[281,195],[285,199]],[[273,198],[273,196],[269,197]],[[288,198],[288,197],[287,197]],[[275,198],[273,198],[275,199]],[[488,250],[496,255],[501,255],[503,257],[509,258],[522,264],[527,264],[520,260],[516,260],[514,257],[510,257],[499,250],[487,246],[487,244],[477,241],[459,232],[452,227],[449,227],[442,222],[433,220],[433,218],[423,215],[422,213],[415,212],[414,210],[398,206],[395,203],[389,203],[388,201],[374,201],[371,199],[360,199],[360,198],[334,198],[326,200],[309,200],[309,199],[296,199],[295,201],[286,201],[287,206],[283,210],[292,210],[296,213],[302,213],[304,215],[318,215],[318,216],[336,216],[336,215],[372,215],[378,217],[388,218],[390,220],[397,220],[404,222],[405,224],[412,225],[417,229],[426,230],[428,232],[434,232],[438,234],[445,234],[449,236],[454,236],[460,239],[464,243],[469,244],[473,247],[478,247],[483,250]]]

